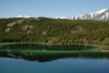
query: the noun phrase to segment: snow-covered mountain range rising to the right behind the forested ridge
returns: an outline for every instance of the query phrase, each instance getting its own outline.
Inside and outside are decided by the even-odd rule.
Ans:
[[[56,17],[56,19],[64,19],[63,16],[61,17]],[[65,17],[66,19],[66,17]],[[73,17],[68,17],[69,20],[97,20],[97,21],[109,21],[109,9],[102,9],[97,12],[84,14],[84,15],[77,15]]]

